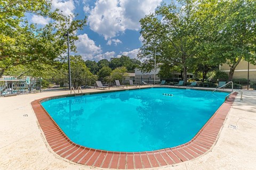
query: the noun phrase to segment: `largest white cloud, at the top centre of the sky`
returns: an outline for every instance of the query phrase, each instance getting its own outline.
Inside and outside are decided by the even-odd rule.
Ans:
[[[91,30],[107,40],[126,29],[139,30],[139,20],[155,11],[162,0],[97,0],[90,11]]]

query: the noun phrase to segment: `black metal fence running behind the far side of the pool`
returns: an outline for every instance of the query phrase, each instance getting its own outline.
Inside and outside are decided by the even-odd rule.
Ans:
[[[132,79],[134,84],[141,84],[142,81],[147,83],[154,83],[154,80],[135,80]],[[95,87],[95,79],[72,79],[72,86],[76,89],[77,87],[81,87],[82,89],[93,88]],[[103,79],[99,79],[102,84],[114,85],[113,81],[106,81]],[[165,84],[173,86],[174,84],[178,84],[180,79],[166,79]],[[187,84],[183,84],[186,86],[195,80],[188,80]],[[196,81],[197,87],[205,87],[205,88],[216,88],[219,85],[220,81],[229,82],[228,80],[219,80],[216,81]],[[160,83],[160,80],[156,80],[155,83]],[[129,80],[123,80],[121,83],[129,84]],[[229,83],[225,88],[231,88],[231,83]],[[246,79],[234,79],[233,80],[233,88],[234,89],[249,89],[256,90],[256,79],[250,79],[249,81]],[[2,80],[0,81],[0,95],[12,95],[12,94],[29,94],[34,92],[49,92],[49,91],[62,91],[68,90],[69,83],[68,79],[42,79],[42,78],[31,78],[29,84],[26,83],[25,80]]]

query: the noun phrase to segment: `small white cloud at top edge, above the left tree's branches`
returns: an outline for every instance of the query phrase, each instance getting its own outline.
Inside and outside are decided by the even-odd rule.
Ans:
[[[73,15],[73,11],[75,10],[75,5],[72,0],[61,1],[61,0],[52,0],[52,8],[53,10],[59,9],[63,15]]]

